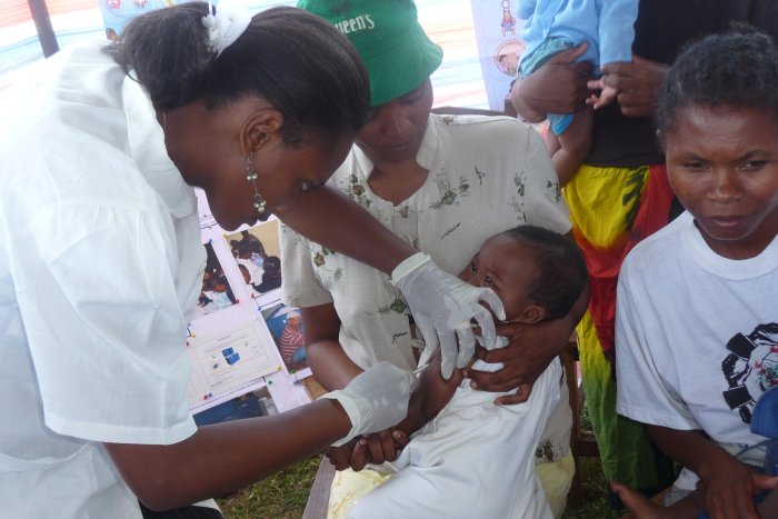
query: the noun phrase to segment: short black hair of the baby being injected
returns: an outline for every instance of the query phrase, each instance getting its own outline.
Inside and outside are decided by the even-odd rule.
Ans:
[[[537,275],[527,296],[546,310],[543,320],[568,315],[589,279],[584,254],[565,236],[535,226],[519,226],[501,233],[528,246],[535,254]]]

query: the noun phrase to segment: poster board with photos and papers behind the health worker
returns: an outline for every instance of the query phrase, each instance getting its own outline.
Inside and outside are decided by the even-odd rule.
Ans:
[[[197,190],[207,252],[189,323],[189,409],[198,423],[283,412],[311,401],[302,321],[281,302],[279,221],[226,231]]]

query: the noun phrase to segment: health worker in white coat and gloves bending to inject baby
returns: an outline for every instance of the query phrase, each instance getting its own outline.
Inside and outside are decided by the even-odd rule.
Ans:
[[[186,3],[30,76],[0,100],[3,517],[151,517],[403,418],[410,376],[382,365],[297,410],[196,427],[184,343],[206,254],[192,186],[226,229],[275,212],[395,269],[451,365],[449,339],[473,316],[493,336],[479,305],[491,292],[462,291],[320,188],[369,112],[365,69],[329,23]]]

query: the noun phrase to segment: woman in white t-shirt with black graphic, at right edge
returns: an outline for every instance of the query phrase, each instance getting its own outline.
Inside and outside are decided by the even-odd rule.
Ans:
[[[775,43],[744,30],[689,47],[660,90],[658,134],[686,212],[621,268],[617,409],[682,463],[666,503],[691,496],[661,509],[614,483],[638,517],[776,517],[778,477],[750,425],[778,386],[777,84]],[[770,492],[771,509],[755,505]]]

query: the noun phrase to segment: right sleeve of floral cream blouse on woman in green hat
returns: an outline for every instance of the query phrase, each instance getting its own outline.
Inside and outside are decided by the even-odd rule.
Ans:
[[[517,124],[523,124],[516,121]],[[543,227],[562,234],[571,229],[570,213],[562,198],[557,172],[551,163],[546,144],[540,134],[527,127],[521,154],[517,158],[522,164],[519,174],[525,179],[525,214],[527,223]]]

